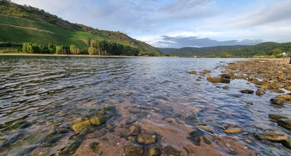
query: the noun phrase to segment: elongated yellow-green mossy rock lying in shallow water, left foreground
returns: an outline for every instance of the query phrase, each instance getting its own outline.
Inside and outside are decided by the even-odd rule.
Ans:
[[[77,123],[73,125],[71,128],[72,130],[75,130],[75,131],[82,131],[89,125],[94,125],[94,126],[102,125],[106,123],[108,119],[109,119],[108,116],[100,116],[100,117],[96,117],[90,120],[85,120],[83,122]]]

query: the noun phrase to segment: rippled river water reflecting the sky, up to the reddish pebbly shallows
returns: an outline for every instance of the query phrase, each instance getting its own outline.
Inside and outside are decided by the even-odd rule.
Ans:
[[[261,155],[290,155],[291,151],[280,143],[254,137],[254,133],[267,128],[277,128],[291,136],[289,130],[268,118],[270,113],[291,116],[290,104],[274,106],[269,102],[278,93],[242,94],[239,92],[242,89],[256,90],[255,85],[247,85],[245,80],[213,84],[206,80],[206,75],[196,81],[200,71],[211,70],[212,77],[218,76],[224,69],[213,68],[237,60],[0,56],[0,155],[34,155],[45,149],[41,155],[49,156],[72,145],[78,147],[91,132],[78,134],[70,129],[71,122],[80,117],[95,117],[106,106],[116,107],[104,110],[111,117],[107,122],[111,125],[126,120],[132,114],[129,109],[136,106],[163,119],[175,114],[195,115],[197,121],[186,120],[184,124],[209,125],[217,135],[249,140],[246,146]],[[192,70],[197,75],[186,73]],[[224,85],[230,89],[216,88]],[[191,113],[190,109],[195,111]],[[158,127],[161,123],[152,124]],[[247,131],[228,135],[221,128],[227,125]],[[106,132],[111,133],[108,129]]]

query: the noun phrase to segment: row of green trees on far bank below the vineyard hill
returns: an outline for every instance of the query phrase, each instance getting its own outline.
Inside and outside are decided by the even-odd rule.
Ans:
[[[87,41],[87,47],[79,49],[75,45],[56,45],[49,43],[48,47],[41,47],[37,43],[23,43],[22,52],[40,53],[40,54],[89,54],[89,55],[119,55],[119,56],[137,56],[140,53],[138,47],[127,44],[116,43],[111,40],[98,40],[91,44],[91,39]]]

